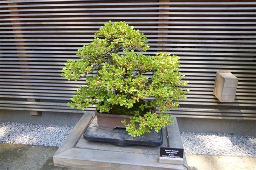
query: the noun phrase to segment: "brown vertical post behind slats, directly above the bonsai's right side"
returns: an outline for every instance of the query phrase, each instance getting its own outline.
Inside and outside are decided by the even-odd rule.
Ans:
[[[170,2],[170,0],[159,0],[159,2]],[[170,5],[159,5],[159,7],[170,7]],[[169,12],[169,10],[164,9],[164,10],[159,10],[159,12]],[[169,15],[168,14],[160,14],[159,17],[169,17]],[[167,22],[169,21],[169,19],[158,19],[158,21],[161,22],[158,24],[158,26],[168,26]],[[159,37],[158,39],[162,39],[162,40],[167,39],[167,37],[165,37],[165,35],[167,35],[168,33],[164,33],[161,31],[168,31],[168,29],[159,28],[158,31],[159,31],[158,35],[161,35],[161,37]],[[167,43],[167,42],[164,42],[164,43]],[[166,48],[166,46],[162,45],[163,44],[162,41],[158,41],[158,44],[159,44],[158,48]],[[164,49],[160,49],[158,51],[166,52],[166,50],[164,50]]]

